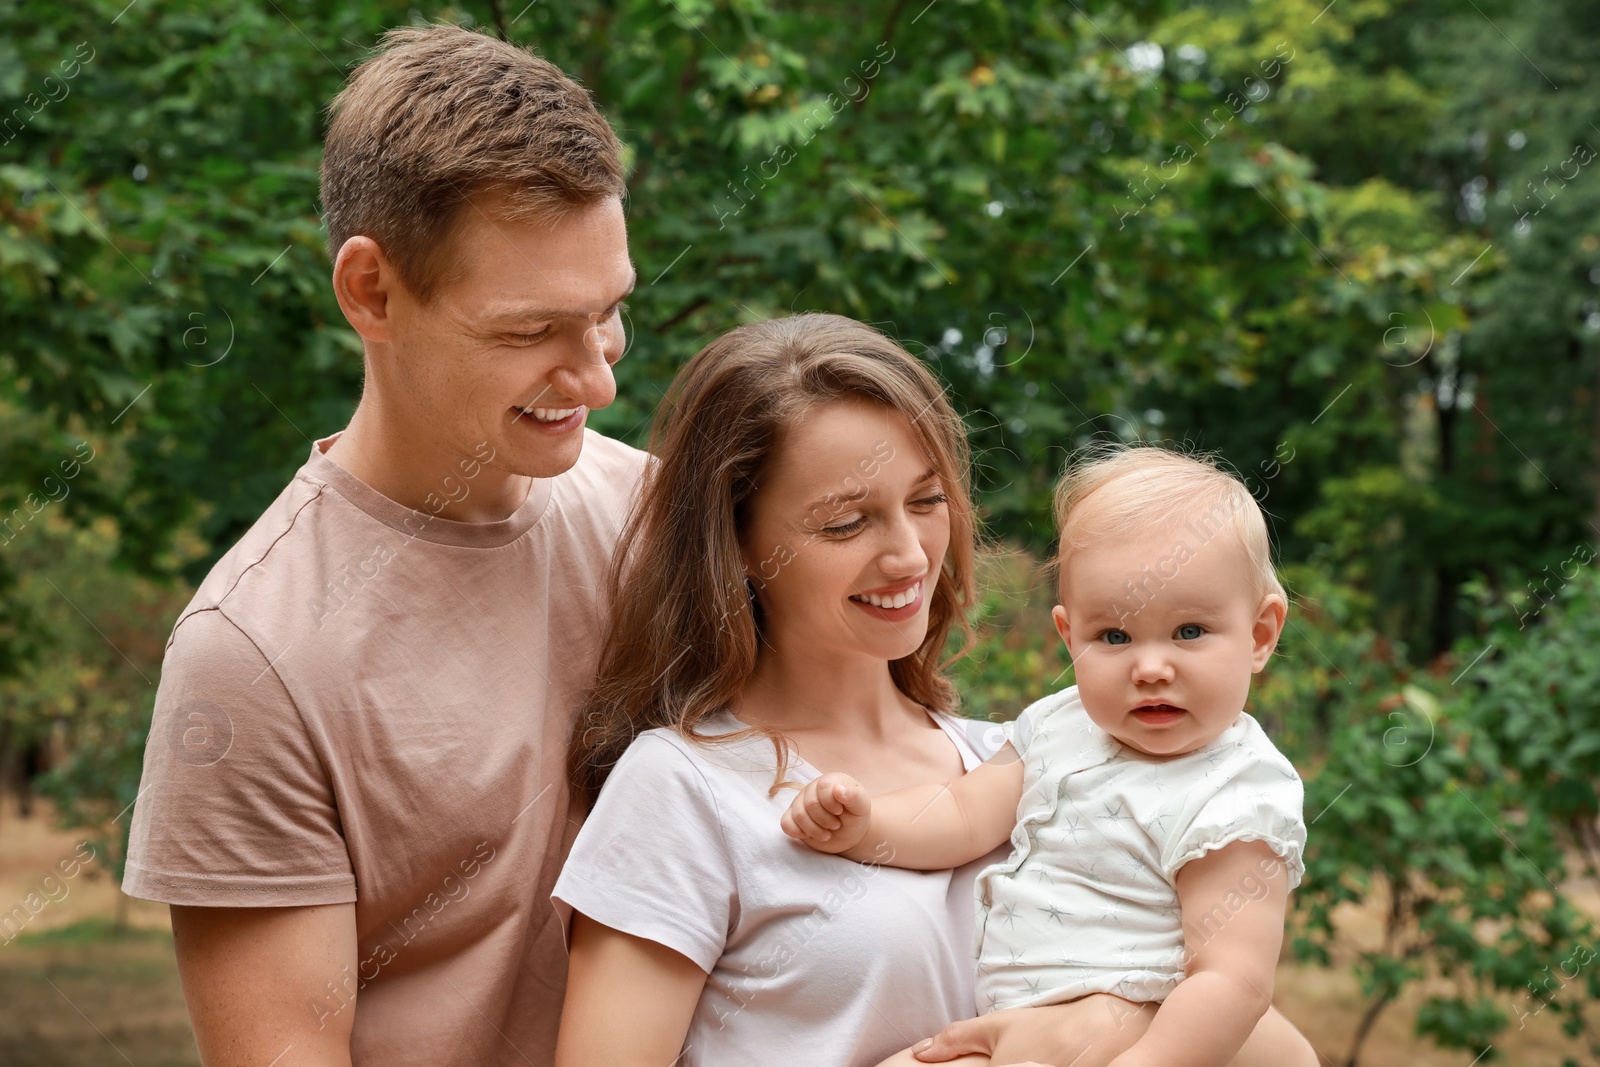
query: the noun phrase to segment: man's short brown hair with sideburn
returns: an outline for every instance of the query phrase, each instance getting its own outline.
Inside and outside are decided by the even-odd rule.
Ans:
[[[483,202],[491,221],[554,221],[622,195],[622,144],[554,64],[459,26],[392,29],[378,48],[328,109],[322,205],[334,259],[350,237],[370,237],[430,302],[462,211]]]

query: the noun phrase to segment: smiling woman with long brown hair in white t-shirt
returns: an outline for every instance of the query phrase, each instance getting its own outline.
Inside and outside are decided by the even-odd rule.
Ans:
[[[869,1067],[973,1014],[971,886],[1002,856],[813,853],[779,827],[784,784],[877,793],[990,755],[939,672],[973,597],[960,418],[893,341],[800,315],[696,355],[651,451],[574,733],[598,800],[554,893],[557,1065]],[[1080,1003],[1104,1059],[1147,1022]]]

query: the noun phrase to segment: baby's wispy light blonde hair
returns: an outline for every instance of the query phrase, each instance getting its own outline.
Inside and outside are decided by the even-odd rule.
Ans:
[[[1256,595],[1288,600],[1272,569],[1272,539],[1256,498],[1211,456],[1186,456],[1162,445],[1098,445],[1056,485],[1056,530],[1058,574],[1066,574],[1074,550],[1107,537],[1171,530],[1194,536],[1192,552],[1227,531],[1245,550]]]

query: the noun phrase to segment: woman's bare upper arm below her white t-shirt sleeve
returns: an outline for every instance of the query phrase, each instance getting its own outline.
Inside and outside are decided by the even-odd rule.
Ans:
[[[670,1067],[704,985],[688,957],[574,913],[555,1067]]]

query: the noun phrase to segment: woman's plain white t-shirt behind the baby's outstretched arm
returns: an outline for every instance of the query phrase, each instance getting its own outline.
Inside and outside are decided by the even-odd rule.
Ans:
[[[998,742],[990,723],[933,718],[966,769]],[[722,713],[702,733],[738,728]],[[973,878],[1003,853],[899,870],[811,851],[779,825],[795,793],[768,797],[773,769],[765,737],[640,734],[550,894],[563,923],[582,912],[706,971],[683,1067],[870,1067],[971,1017]],[[816,776],[790,761],[789,781]]]

